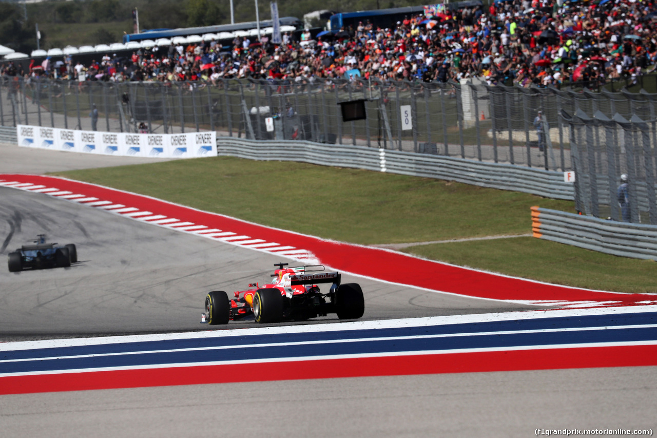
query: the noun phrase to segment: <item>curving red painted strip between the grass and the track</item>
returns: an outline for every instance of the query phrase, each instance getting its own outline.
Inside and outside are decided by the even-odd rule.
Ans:
[[[83,193],[87,197],[97,197],[128,207],[138,207],[154,214],[166,214],[170,218],[202,224],[208,228],[218,228],[239,235],[279,242],[281,245],[294,245],[296,248],[313,251],[322,264],[337,270],[436,291],[499,300],[620,301],[619,304],[624,305],[656,299],[654,295],[607,293],[537,283],[521,278],[508,278],[423,260],[384,249],[327,241],[291,231],[275,230],[136,193],[127,193],[54,176],[0,174],[0,179],[58,187],[74,193]]]

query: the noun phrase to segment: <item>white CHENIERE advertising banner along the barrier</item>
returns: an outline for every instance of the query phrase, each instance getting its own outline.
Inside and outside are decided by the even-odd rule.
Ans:
[[[18,145],[132,157],[196,158],[217,156],[216,132],[189,134],[131,134],[16,126]]]

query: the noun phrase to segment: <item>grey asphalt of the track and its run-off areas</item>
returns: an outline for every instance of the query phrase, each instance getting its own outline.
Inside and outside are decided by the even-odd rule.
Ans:
[[[0,172],[148,160],[110,157],[108,164],[107,157],[12,145],[1,145],[0,153]],[[2,255],[45,232],[76,243],[80,260],[18,274],[0,268],[0,341],[208,329],[198,324],[207,291],[267,281],[281,261],[37,193],[3,187],[0,199]],[[370,320],[528,308],[344,281],[361,283]],[[327,321],[336,319],[313,324]],[[229,329],[250,325],[231,322]],[[627,367],[5,395],[0,435],[527,437],[536,428],[654,429],[656,377],[654,367]]]

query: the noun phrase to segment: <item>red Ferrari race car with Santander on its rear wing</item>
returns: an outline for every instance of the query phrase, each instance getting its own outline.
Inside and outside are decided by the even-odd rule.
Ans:
[[[229,299],[224,291],[208,293],[201,323],[228,324],[230,320],[253,317],[256,322],[303,321],[316,316],[338,314],[341,320],[363,316],[365,299],[356,283],[340,284],[338,272],[323,272],[324,266],[284,268],[287,263],[274,264],[278,269],[271,284],[251,283],[248,291],[237,291]],[[317,283],[332,283],[327,293],[319,291]]]

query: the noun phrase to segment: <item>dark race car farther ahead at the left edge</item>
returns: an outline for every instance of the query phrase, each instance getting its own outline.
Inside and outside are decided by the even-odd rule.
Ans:
[[[76,245],[57,246],[57,243],[45,243],[45,234],[39,234],[34,245],[23,245],[9,253],[9,272],[22,271],[25,268],[67,267],[78,261]]]

